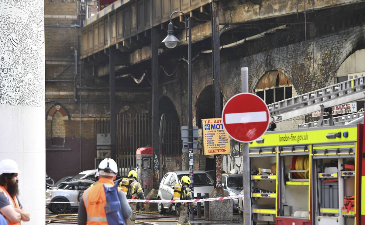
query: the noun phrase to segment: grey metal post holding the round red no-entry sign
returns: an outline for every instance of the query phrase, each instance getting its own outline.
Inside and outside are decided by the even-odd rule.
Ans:
[[[249,92],[249,68],[241,68],[242,93]],[[242,143],[243,151],[243,224],[251,225],[251,181],[249,143]],[[247,198],[248,197],[248,198]]]

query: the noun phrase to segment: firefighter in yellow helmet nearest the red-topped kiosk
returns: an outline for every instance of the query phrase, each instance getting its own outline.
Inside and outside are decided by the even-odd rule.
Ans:
[[[131,170],[128,173],[128,178],[123,178],[122,182],[120,182],[119,187],[122,188],[124,193],[126,193],[127,199],[145,199],[145,194],[143,193],[141,184],[137,182],[137,172],[135,170]],[[137,202],[130,202],[129,206],[132,208],[132,216],[127,221],[127,225],[133,225],[137,218]],[[142,209],[145,208],[145,204],[142,204]]]

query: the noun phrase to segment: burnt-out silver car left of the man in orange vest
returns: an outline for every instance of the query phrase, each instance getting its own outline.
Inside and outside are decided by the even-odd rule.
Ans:
[[[62,182],[59,187],[46,190],[46,202],[79,202],[82,193],[93,183],[93,180],[86,179]],[[78,209],[78,203],[46,203],[46,207],[51,212],[60,214],[66,210]]]

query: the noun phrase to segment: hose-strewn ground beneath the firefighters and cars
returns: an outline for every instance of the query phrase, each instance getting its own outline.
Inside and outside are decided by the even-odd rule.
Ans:
[[[66,211],[65,214],[77,214],[77,212],[74,211]],[[49,211],[48,209],[46,209],[46,216],[55,216],[56,214],[52,213],[51,211]],[[64,217],[59,217],[59,218],[77,218],[76,216],[64,216]],[[49,218],[46,218],[46,221],[48,221]],[[176,222],[163,222],[166,220],[178,220],[178,216],[175,213],[166,213],[164,215],[160,215],[159,213],[153,213],[153,214],[138,214],[137,215],[137,221],[151,221],[153,220],[154,222],[144,222],[141,224],[145,224],[145,225],[176,225]],[[73,220],[74,222],[76,222],[77,220]],[[161,221],[161,222],[159,222]],[[75,224],[74,222],[69,222],[69,221],[64,221],[65,223],[57,223],[57,222],[52,222],[52,225],[64,225],[64,224]],[[69,222],[69,223],[68,223]],[[233,225],[233,224],[243,224],[243,217],[239,216],[239,215],[233,215],[233,221],[205,221],[204,217],[203,219],[197,219],[195,218],[194,221],[190,221],[191,224],[196,224],[196,225]]]

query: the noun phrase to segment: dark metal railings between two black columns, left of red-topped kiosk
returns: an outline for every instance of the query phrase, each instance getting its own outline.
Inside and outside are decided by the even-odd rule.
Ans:
[[[136,150],[151,146],[152,126],[150,114],[118,114],[116,127],[116,162],[120,175],[127,176],[135,168]]]

